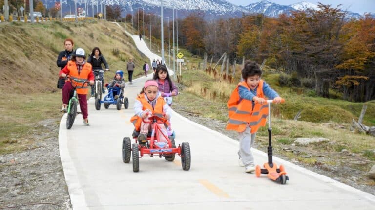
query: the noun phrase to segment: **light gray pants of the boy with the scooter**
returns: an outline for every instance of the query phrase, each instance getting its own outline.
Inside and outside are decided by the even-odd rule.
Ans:
[[[254,157],[251,153],[251,147],[254,144],[256,133],[250,133],[251,128],[246,127],[244,132],[238,132],[240,140],[240,150],[238,151],[238,156],[242,158],[242,162],[245,166],[254,166]]]

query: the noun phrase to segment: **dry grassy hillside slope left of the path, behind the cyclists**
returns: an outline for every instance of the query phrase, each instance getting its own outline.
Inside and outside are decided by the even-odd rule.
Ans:
[[[104,21],[3,23],[0,32],[0,49],[5,49],[0,51],[0,89],[4,91],[9,88],[16,93],[55,91],[60,70],[56,59],[64,50],[65,38],[72,38],[74,49],[82,47],[86,54],[99,47],[110,66],[111,72],[105,73],[107,79],[116,70],[126,73],[129,58],[134,59],[134,76],[137,76],[141,74],[141,64],[147,60],[117,25]]]

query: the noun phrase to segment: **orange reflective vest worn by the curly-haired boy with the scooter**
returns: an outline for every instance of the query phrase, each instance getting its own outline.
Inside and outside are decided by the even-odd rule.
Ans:
[[[265,98],[263,93],[263,80],[260,80],[256,96],[259,98]],[[250,126],[251,133],[258,131],[260,126],[266,125],[268,116],[268,105],[267,104],[255,104],[252,108],[252,101],[240,98],[238,94],[239,86],[246,87],[249,91],[250,88],[246,81],[240,82],[230,95],[227,103],[229,109],[229,123],[226,127],[227,130],[235,130],[243,132],[246,126]]]

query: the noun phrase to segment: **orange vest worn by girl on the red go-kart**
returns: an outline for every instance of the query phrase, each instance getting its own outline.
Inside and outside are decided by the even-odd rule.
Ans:
[[[145,94],[143,94],[143,93],[139,94],[137,96],[137,100],[142,103],[142,106],[143,106],[142,110],[149,109],[149,110],[152,111],[153,115],[156,115],[156,116],[161,117],[161,118],[163,117],[163,106],[166,104],[163,97],[159,97],[159,98],[156,99],[156,104],[155,104],[154,108],[152,108],[152,105],[150,103],[148,103],[148,101],[145,97]],[[141,117],[139,117],[138,115],[134,115],[133,117],[130,118],[130,122],[133,123],[136,131],[140,130],[141,123],[142,123]],[[167,122],[166,122],[166,124],[168,125]]]

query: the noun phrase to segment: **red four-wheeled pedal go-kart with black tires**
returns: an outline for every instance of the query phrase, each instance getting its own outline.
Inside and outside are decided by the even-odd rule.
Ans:
[[[154,155],[159,155],[160,158],[165,157],[167,161],[173,161],[175,155],[181,157],[182,169],[187,171],[190,169],[191,156],[190,156],[190,145],[188,142],[183,142],[176,147],[174,138],[172,136],[167,136],[167,133],[163,133],[161,125],[166,123],[166,119],[153,115],[147,118],[150,122],[153,122],[152,131],[147,134],[147,138],[144,142],[139,142],[137,140],[139,131],[134,130],[133,143],[130,147],[131,141],[129,137],[124,137],[123,139],[123,162],[130,162],[130,153],[133,156],[133,172],[139,172],[139,158],[144,155],[149,155],[153,157]],[[144,123],[145,119],[142,119]],[[163,135],[167,142],[162,142],[159,137]]]

